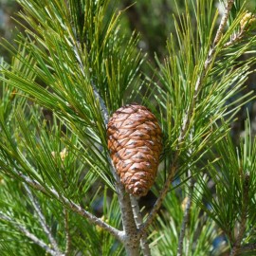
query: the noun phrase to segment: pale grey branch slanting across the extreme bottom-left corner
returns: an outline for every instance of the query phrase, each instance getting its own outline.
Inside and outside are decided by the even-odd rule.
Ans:
[[[55,251],[54,249],[51,249],[50,247],[48,247],[38,237],[36,237],[34,234],[30,233],[23,225],[16,223],[13,219],[11,219],[9,216],[5,215],[1,211],[0,211],[0,219],[9,222],[16,229],[19,229],[22,233],[24,233],[27,236],[27,238],[29,238],[31,241],[33,241],[39,247],[42,247],[43,249],[45,249],[46,252],[49,253],[50,255],[52,255],[52,256],[64,256],[64,254],[62,254],[60,251]]]

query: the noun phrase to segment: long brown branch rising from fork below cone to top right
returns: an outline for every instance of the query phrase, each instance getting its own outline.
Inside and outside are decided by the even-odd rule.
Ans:
[[[221,38],[221,35],[224,31],[225,26],[227,25],[227,21],[229,19],[229,12],[230,9],[232,8],[232,5],[234,3],[234,0],[229,0],[228,1],[228,5],[226,7],[225,13],[223,14],[223,17],[221,19],[221,23],[217,29],[214,41],[213,41],[213,46],[210,48],[209,50],[209,54],[208,57],[204,63],[203,69],[197,79],[197,81],[195,82],[195,86],[194,86],[194,92],[193,92],[193,97],[192,97],[192,102],[188,108],[188,110],[185,113],[185,116],[183,118],[183,124],[181,127],[181,132],[180,132],[180,136],[178,137],[178,146],[176,149],[176,152],[174,154],[174,159],[173,162],[171,164],[170,167],[170,173],[167,176],[166,182],[164,184],[164,187],[162,189],[162,191],[160,192],[156,202],[155,202],[155,206],[154,208],[151,210],[146,222],[142,225],[141,229],[139,230],[139,235],[143,235],[143,233],[149,228],[149,226],[151,225],[151,223],[153,222],[153,220],[155,219],[155,215],[157,213],[157,211],[160,209],[162,202],[167,194],[167,192],[169,191],[170,185],[173,181],[174,178],[174,174],[177,172],[178,169],[178,158],[179,158],[179,154],[180,154],[180,149],[179,146],[184,142],[185,140],[185,136],[189,130],[189,126],[190,126],[190,119],[189,117],[192,117],[192,112],[194,111],[195,108],[195,104],[196,101],[198,99],[199,96],[199,92],[200,89],[202,87],[203,84],[203,80],[207,74],[207,72],[209,71],[210,65],[213,64],[214,62],[214,55],[216,52],[216,46]]]

